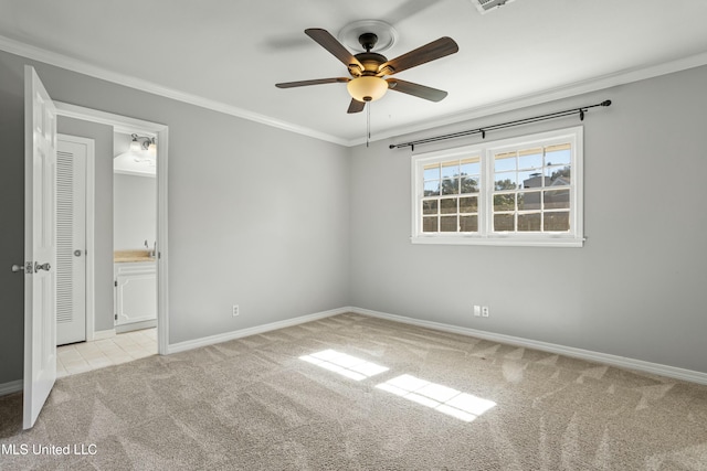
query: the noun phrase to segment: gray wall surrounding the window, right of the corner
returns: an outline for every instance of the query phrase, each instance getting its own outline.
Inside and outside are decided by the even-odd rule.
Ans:
[[[612,99],[584,120],[583,248],[412,245],[410,149],[354,149],[354,306],[707,372],[705,84],[700,67],[416,136]]]

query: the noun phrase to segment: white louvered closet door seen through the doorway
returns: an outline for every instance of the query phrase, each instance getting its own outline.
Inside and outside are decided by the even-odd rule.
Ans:
[[[56,152],[56,344],[86,340],[85,143],[59,137]]]

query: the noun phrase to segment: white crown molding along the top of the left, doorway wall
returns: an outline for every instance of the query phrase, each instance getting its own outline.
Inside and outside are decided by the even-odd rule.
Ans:
[[[43,62],[45,64],[54,65],[56,67],[65,68],[67,71],[76,72],[80,74],[88,75],[94,78],[99,78],[106,82],[110,82],[117,85],[123,85],[129,88],[136,88],[141,92],[151,93],[165,98],[171,98],[178,101],[187,103],[189,105],[199,106],[201,108],[211,109],[213,111],[222,113],[224,115],[235,116],[238,118],[247,119],[250,121],[260,122],[262,125],[271,126],[273,128],[283,129],[291,132],[296,132],[303,136],[315,138],[323,141],[333,142],[339,146],[348,146],[349,142],[346,139],[341,139],[336,136],[331,136],[325,132],[309,129],[304,126],[298,126],[292,122],[283,121],[272,118],[270,116],[261,115],[247,109],[239,108],[231,105],[225,105],[221,101],[217,101],[210,98],[204,98],[198,95],[188,94],[173,88],[165,87],[152,82],[144,81],[141,78],[133,77],[129,75],[119,74],[107,68],[97,67],[84,61],[59,54],[55,52],[46,51],[41,47],[32,46],[7,36],[0,35],[0,50],[9,52],[11,54],[21,55],[33,61]]]

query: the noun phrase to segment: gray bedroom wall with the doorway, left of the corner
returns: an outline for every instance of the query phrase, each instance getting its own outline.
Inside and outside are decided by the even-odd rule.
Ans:
[[[22,377],[25,63],[56,100],[169,126],[170,343],[349,304],[347,149],[0,52],[0,384]]]

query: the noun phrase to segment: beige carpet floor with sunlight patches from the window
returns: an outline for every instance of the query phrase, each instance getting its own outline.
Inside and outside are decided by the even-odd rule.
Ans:
[[[68,376],[20,414],[0,400],[2,470],[707,469],[706,386],[358,314]]]

